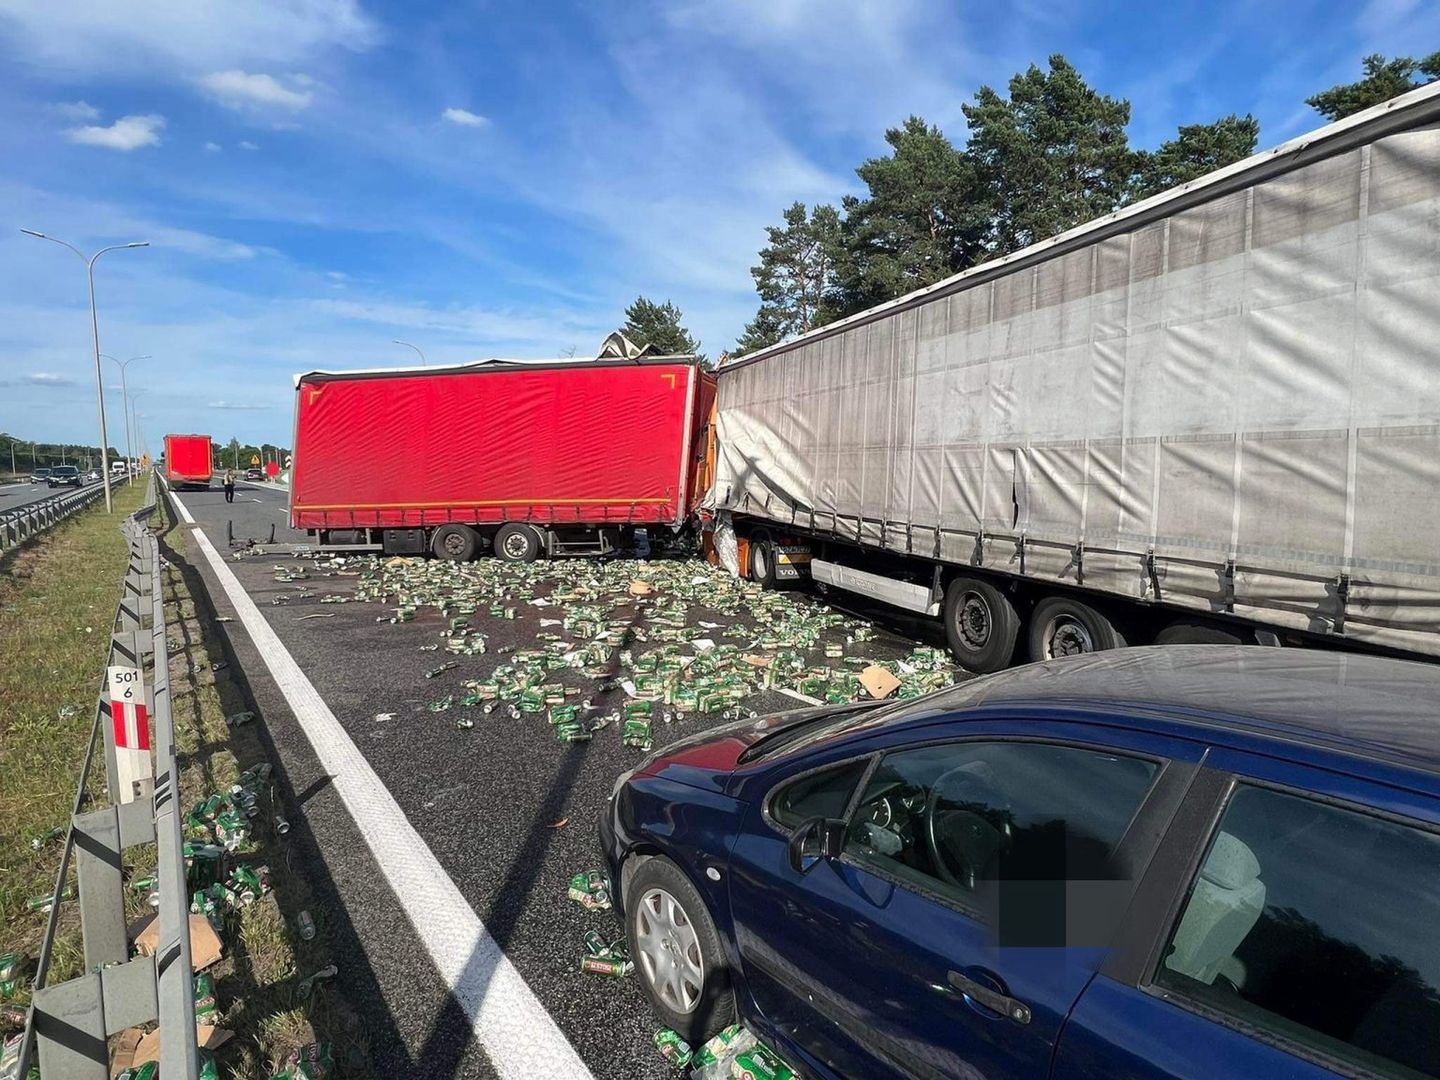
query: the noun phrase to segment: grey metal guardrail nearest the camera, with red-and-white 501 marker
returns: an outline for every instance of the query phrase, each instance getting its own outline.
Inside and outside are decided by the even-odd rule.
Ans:
[[[95,726],[85,750],[71,827],[55,877],[55,900],[40,945],[35,991],[26,1015],[16,1077],[26,1077],[32,1056],[45,1080],[108,1080],[107,1038],[128,1027],[160,1021],[160,1073],[167,1080],[197,1080],[194,986],[190,962],[190,910],[180,822],[180,770],[170,708],[168,648],[160,544],[145,521],[156,510],[151,474],[144,505],[121,526],[130,541],[107,675],[95,704]],[[147,662],[148,661],[148,662]],[[111,713],[109,670],[135,668],[145,678],[145,706],[154,719],[154,780],[131,780],[117,755],[117,720]],[[122,730],[122,726],[121,726]],[[107,798],[84,809],[95,756],[104,737]],[[128,798],[127,798],[128,796]],[[157,844],[160,936],[151,956],[130,958],[121,854],[137,844]],[[65,982],[48,981],[60,897],[71,858],[79,890],[85,972]]]

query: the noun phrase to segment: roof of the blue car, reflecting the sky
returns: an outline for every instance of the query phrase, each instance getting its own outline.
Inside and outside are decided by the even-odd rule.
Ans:
[[[1440,665],[1356,652],[1168,645],[1027,664],[924,698],[1162,713],[1440,775]]]

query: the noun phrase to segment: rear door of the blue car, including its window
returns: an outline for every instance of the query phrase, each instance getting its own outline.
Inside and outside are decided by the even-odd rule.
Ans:
[[[1440,793],[1207,766],[1056,1076],[1440,1076]]]

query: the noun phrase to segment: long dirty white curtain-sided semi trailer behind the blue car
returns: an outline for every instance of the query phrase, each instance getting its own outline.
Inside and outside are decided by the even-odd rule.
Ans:
[[[1440,85],[740,357],[716,431],[750,573],[805,547],[976,671],[1440,655]]]

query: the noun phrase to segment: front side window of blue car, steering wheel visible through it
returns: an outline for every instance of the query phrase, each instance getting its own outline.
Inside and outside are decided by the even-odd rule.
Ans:
[[[887,755],[845,852],[933,891],[1104,880],[1159,765],[1038,742],[968,742]]]

